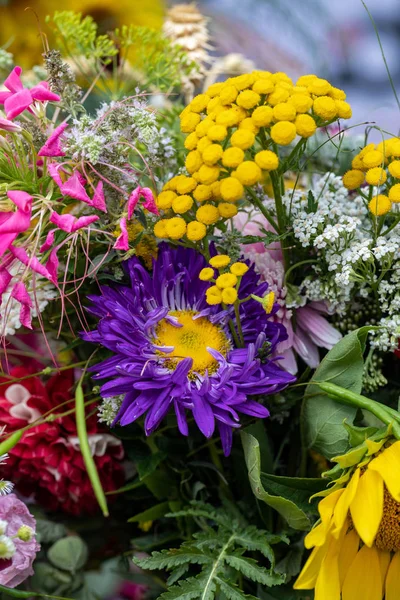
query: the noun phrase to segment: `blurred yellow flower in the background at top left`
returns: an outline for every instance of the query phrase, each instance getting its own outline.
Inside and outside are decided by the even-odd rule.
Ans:
[[[74,10],[84,16],[92,16],[99,25],[99,33],[130,24],[160,29],[164,17],[162,0],[120,0],[114,3],[109,0],[64,0],[60,5],[52,0],[9,0],[5,6],[0,4],[0,46],[7,45],[7,50],[14,54],[16,64],[25,68],[42,62],[43,45],[39,28],[49,36],[51,42],[51,32],[45,24],[45,18],[56,9]],[[25,10],[27,7],[33,10]]]

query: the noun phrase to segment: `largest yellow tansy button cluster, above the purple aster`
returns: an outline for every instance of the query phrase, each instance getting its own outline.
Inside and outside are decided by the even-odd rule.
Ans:
[[[279,170],[279,146],[351,117],[345,98],[316,75],[293,82],[285,73],[254,71],[212,84],[180,115],[188,175],[173,177],[158,196],[163,218],[155,235],[198,242],[234,217],[245,188]]]

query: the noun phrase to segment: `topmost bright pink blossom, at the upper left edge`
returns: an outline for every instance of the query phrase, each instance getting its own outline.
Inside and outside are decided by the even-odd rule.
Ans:
[[[30,90],[24,88],[21,73],[21,67],[15,67],[4,82],[4,86],[9,91],[0,92],[0,104],[4,104],[7,119],[17,117],[35,100],[39,102],[58,102],[60,100],[60,96],[50,91],[47,81],[41,81]]]

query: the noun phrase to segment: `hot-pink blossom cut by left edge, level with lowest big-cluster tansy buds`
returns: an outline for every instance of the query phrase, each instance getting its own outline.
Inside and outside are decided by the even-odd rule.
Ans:
[[[32,215],[32,196],[19,191],[7,192],[7,196],[17,210],[0,212],[0,256],[11,247],[19,233],[28,229]]]

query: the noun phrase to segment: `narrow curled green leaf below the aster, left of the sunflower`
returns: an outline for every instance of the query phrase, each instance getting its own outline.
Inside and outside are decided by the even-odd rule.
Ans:
[[[261,482],[260,447],[258,440],[245,431],[241,432],[241,438],[249,481],[255,497],[278,511],[293,529],[300,529],[302,531],[309,529],[311,526],[309,518],[292,500],[288,500],[282,496],[274,496],[264,489]]]

